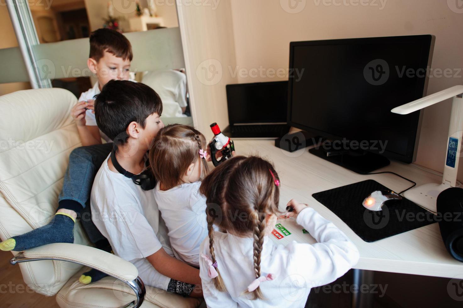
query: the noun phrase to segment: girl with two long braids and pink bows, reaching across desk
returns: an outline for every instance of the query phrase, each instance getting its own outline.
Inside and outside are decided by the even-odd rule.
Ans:
[[[304,307],[312,287],[331,283],[358,261],[344,233],[294,199],[284,217],[294,217],[318,243],[272,243],[268,235],[283,214],[280,180],[263,158],[228,159],[206,176],[200,192],[207,201],[200,277],[208,307]]]

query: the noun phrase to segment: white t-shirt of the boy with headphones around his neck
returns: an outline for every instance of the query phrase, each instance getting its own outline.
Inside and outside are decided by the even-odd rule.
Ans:
[[[174,256],[153,192],[109,170],[109,157],[93,183],[92,220],[109,240],[114,254],[134,264],[146,285],[167,290],[170,278],[158,273],[146,259],[161,248]]]

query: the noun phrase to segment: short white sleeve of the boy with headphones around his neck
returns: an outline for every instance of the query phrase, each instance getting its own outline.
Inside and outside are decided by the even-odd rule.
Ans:
[[[111,199],[109,202],[113,204],[106,204],[102,208],[114,210],[109,211],[110,213],[98,213],[92,220],[102,220],[99,225],[106,229],[108,240],[117,256],[130,261],[146,258],[162,248],[156,233],[137,205],[131,205],[129,198],[123,198],[120,202],[115,201],[116,198]]]

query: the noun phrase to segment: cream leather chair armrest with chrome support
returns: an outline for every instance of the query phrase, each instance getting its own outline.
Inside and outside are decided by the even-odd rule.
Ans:
[[[138,277],[137,267],[109,252],[86,245],[54,243],[21,252],[10,263],[14,265],[38,260],[68,261],[94,268],[128,284],[137,296],[133,302],[135,307],[140,307],[144,301],[146,290]]]

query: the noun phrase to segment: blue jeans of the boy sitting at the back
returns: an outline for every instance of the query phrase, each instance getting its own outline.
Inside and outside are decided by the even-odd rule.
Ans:
[[[81,224],[92,243],[104,239],[95,227],[90,212],[90,192],[96,173],[111,153],[112,143],[89,145],[75,148],[69,155],[69,165],[63,181],[63,189],[58,201],[73,200],[78,202],[81,210]],[[87,206],[88,205],[88,206]],[[58,207],[66,208],[66,207]],[[73,210],[75,210],[73,208]],[[79,214],[79,211],[76,211]]]

